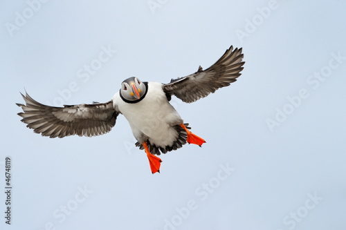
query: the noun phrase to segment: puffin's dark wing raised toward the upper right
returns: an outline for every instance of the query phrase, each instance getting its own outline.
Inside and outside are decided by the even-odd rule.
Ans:
[[[167,96],[175,95],[183,102],[196,102],[218,88],[235,82],[244,68],[243,57],[242,48],[233,50],[233,46],[230,46],[215,64],[206,70],[199,66],[199,70],[192,75],[172,79],[169,84],[163,84],[163,91]]]

